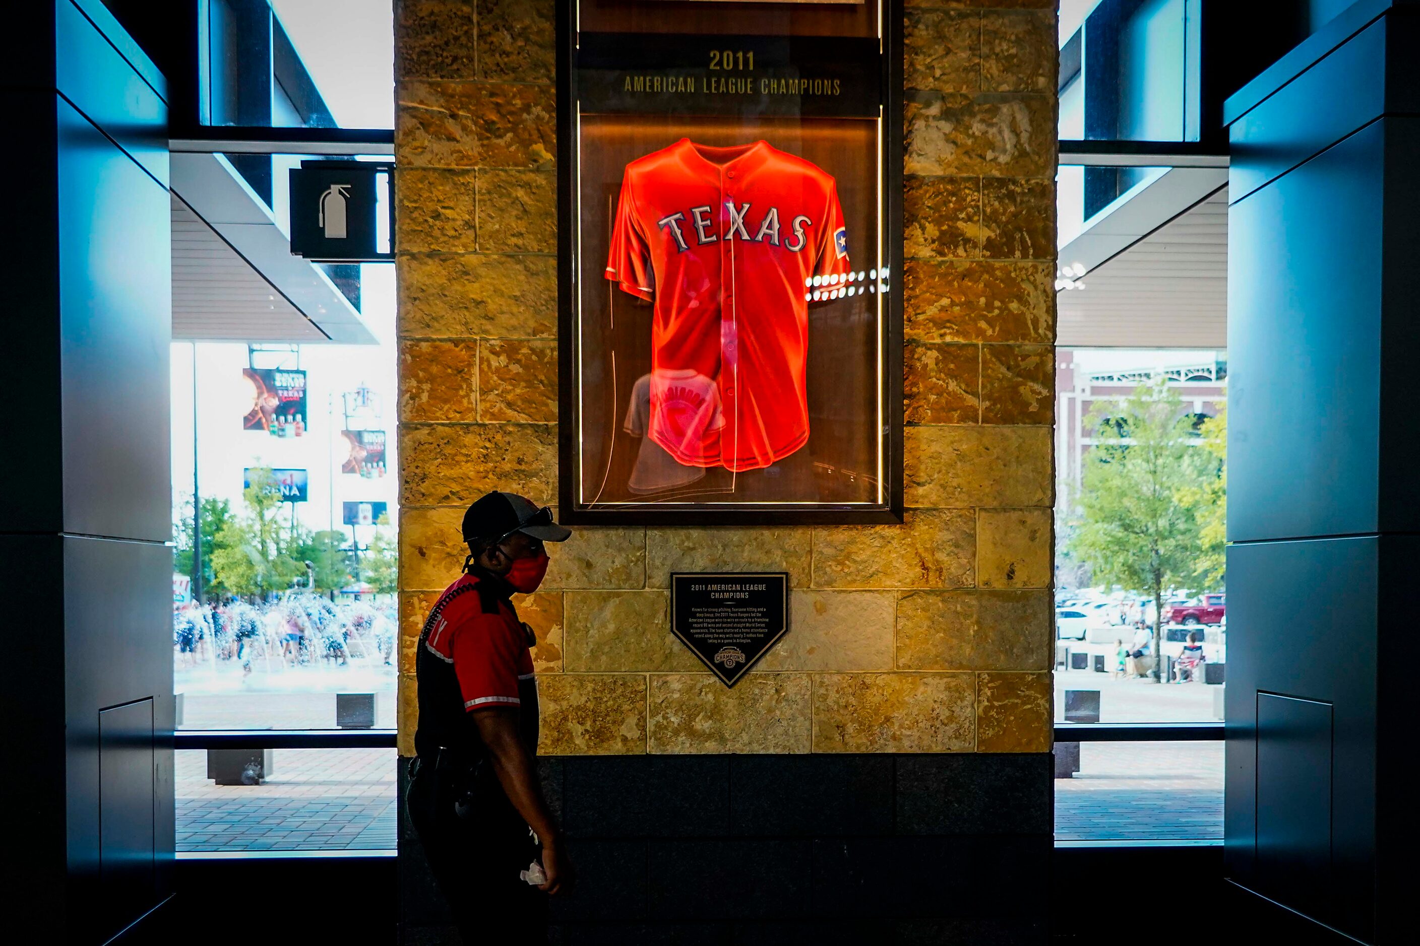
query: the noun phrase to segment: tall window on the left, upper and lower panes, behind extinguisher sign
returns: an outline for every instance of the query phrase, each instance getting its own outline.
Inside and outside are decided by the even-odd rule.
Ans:
[[[173,160],[178,850],[392,850],[395,274],[293,258],[287,186],[366,157],[337,129],[389,139],[392,11],[193,1],[195,119],[234,146]]]

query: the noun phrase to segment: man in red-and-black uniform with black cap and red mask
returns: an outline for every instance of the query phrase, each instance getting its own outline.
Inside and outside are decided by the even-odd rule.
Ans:
[[[544,543],[571,535],[547,506],[483,496],[463,516],[464,574],[419,635],[409,817],[466,943],[547,942],[545,895],[572,882],[532,763],[532,630],[510,600],[541,584]]]

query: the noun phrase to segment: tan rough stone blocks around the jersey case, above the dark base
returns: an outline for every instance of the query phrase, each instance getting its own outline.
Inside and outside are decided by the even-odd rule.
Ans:
[[[413,642],[487,489],[557,498],[551,0],[399,0],[400,752]],[[906,522],[596,528],[518,603],[551,756],[1051,745],[1052,0],[909,0]],[[726,689],[673,570],[785,570],[791,630]]]

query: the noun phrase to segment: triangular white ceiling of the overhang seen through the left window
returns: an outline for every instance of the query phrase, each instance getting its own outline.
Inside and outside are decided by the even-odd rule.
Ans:
[[[173,338],[324,342],[327,336],[172,194]]]

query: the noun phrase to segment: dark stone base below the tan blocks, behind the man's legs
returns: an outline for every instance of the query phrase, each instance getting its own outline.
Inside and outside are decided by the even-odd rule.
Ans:
[[[1030,755],[540,760],[581,882],[554,943],[1044,943],[1052,762]],[[400,810],[406,764],[400,764]],[[450,942],[400,817],[403,942]]]

